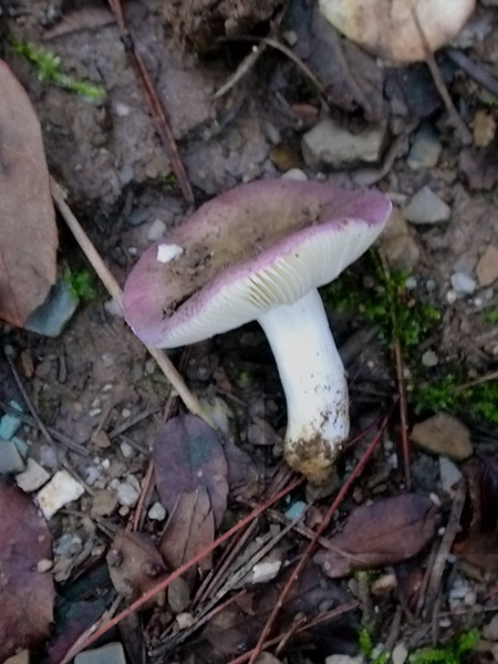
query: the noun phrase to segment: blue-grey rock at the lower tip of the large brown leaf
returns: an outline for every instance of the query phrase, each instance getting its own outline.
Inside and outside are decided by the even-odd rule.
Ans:
[[[59,279],[46,300],[28,319],[24,328],[43,336],[59,336],[77,309],[80,300],[70,294],[69,284]]]

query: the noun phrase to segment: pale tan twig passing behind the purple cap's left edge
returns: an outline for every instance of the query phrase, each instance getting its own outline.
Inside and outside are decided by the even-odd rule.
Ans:
[[[62,218],[64,219],[71,232],[73,234],[74,238],[76,239],[77,243],[80,245],[81,250],[89,259],[98,279],[101,279],[102,283],[107,289],[110,295],[121,303],[123,292],[117,281],[114,279],[113,274],[111,274],[106,264],[102,260],[100,253],[92,245],[92,241],[90,240],[89,236],[80,226],[80,222],[73,215],[71,208],[65,203],[65,191],[53,177],[50,178],[50,187],[55,205]],[[164,375],[167,377],[169,383],[178,392],[180,400],[184,402],[185,406],[190,411],[190,413],[197,415],[198,417],[201,417],[207,424],[209,424],[209,426],[216,428],[211,418],[207,415],[207,413],[200,405],[198,398],[188,390],[183,377],[180,376],[179,372],[175,369],[170,360],[158,349],[153,349],[146,344],[144,345],[149,352],[149,354],[157,362],[159,369],[163,371]]]

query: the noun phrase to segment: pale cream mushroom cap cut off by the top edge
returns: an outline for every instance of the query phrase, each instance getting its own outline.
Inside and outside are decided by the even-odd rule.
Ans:
[[[417,21],[436,51],[456,37],[476,0],[320,0],[323,15],[352,41],[393,62],[426,59]]]

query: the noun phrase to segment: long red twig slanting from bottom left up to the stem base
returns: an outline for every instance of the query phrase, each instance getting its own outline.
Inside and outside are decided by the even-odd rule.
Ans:
[[[199,551],[199,553],[194,556],[194,558],[191,558],[190,560],[188,560],[187,562],[181,564],[179,568],[177,568],[174,572],[172,572],[172,574],[169,574],[169,577],[167,577],[166,579],[163,579],[159,583],[157,583],[157,585],[155,585],[154,588],[148,590],[146,593],[144,593],[141,598],[138,598],[138,600],[135,600],[132,604],[129,604],[129,606],[127,606],[124,611],[122,611],[115,618],[110,620],[105,625],[102,625],[100,629],[95,629],[93,631],[93,633],[85,641],[73,644],[70,647],[70,650],[66,652],[66,654],[64,655],[64,657],[62,658],[60,664],[69,664],[71,662],[71,660],[77,655],[77,653],[80,653],[82,650],[89,647],[89,645],[91,645],[92,643],[97,641],[97,639],[100,639],[103,634],[106,634],[110,630],[112,630],[115,625],[117,625],[124,618],[126,618],[127,615],[129,615],[131,613],[133,613],[134,611],[136,611],[137,609],[139,609],[141,606],[146,604],[147,602],[149,602],[154,596],[156,596],[157,593],[165,590],[172,583],[172,581],[174,581],[175,579],[178,579],[178,577],[181,577],[181,574],[185,574],[186,571],[188,571],[190,568],[193,568],[195,564],[197,564],[200,560],[206,558],[206,556],[209,556],[209,553],[211,553],[211,551],[214,551],[220,544],[222,544],[222,542],[225,542],[232,535],[238,532],[241,528],[247,526],[247,523],[250,523],[253,519],[256,519],[256,517],[258,517],[260,513],[262,513],[270,505],[273,505],[274,502],[277,502],[278,500],[283,498],[283,496],[286,496],[289,491],[291,491],[292,489],[298,487],[301,483],[302,483],[302,478],[295,479],[288,487],[286,487],[286,489],[280,491],[280,494],[278,494],[277,496],[273,496],[272,498],[267,500],[263,505],[260,505],[257,509],[253,509],[249,515],[243,517],[243,519],[241,519],[238,523],[236,523],[229,530],[224,532],[224,535],[218,537],[212,543],[210,543],[208,547],[206,547],[205,549]]]

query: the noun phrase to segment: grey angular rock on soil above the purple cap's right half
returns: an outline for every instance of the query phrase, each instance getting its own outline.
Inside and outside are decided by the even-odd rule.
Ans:
[[[326,117],[303,135],[302,154],[310,166],[326,164],[342,168],[357,162],[378,162],[386,135],[385,122],[352,133]]]

